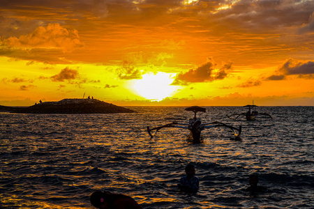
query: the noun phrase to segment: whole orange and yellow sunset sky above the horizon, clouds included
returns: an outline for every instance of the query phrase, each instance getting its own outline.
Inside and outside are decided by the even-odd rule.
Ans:
[[[0,105],[314,105],[314,1],[0,0]]]

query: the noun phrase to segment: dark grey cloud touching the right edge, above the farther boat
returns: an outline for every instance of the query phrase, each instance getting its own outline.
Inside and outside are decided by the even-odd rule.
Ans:
[[[314,61],[297,61],[287,59],[267,80],[282,80],[287,75],[299,75],[300,78],[312,79],[314,75]]]

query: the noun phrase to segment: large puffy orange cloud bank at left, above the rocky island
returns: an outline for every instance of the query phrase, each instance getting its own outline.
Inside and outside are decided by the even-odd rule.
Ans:
[[[1,33],[0,33],[1,35]],[[77,30],[66,29],[60,24],[38,26],[33,32],[20,37],[0,36],[0,56],[33,61],[59,61],[61,56],[84,47]]]

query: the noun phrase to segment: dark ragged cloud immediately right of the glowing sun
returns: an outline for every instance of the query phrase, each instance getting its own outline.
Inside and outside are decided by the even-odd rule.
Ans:
[[[227,70],[230,70],[232,63],[226,63],[216,70],[214,59],[207,58],[207,62],[200,67],[188,70],[188,72],[179,72],[174,79],[172,85],[187,85],[196,82],[213,82],[217,79],[227,77]]]

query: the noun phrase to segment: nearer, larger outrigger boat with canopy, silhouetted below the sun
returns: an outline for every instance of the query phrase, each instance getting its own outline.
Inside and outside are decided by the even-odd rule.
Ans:
[[[147,132],[149,133],[149,136],[151,136],[151,138],[153,138],[156,135],[156,133],[158,132],[158,130],[160,130],[164,127],[178,127],[178,128],[190,130],[190,134],[193,138],[193,143],[200,143],[200,134],[201,134],[202,130],[207,129],[207,128],[211,128],[211,127],[228,127],[232,130],[232,132],[235,136],[234,139],[235,140],[241,140],[240,139],[241,125],[239,126],[239,128],[237,128],[237,127],[232,127],[231,125],[226,125],[225,123],[220,123],[217,121],[212,122],[212,123],[202,124],[202,121],[200,120],[200,118],[196,118],[196,114],[199,111],[205,112],[206,108],[198,107],[198,106],[192,106],[192,107],[187,107],[186,111],[193,111],[194,112],[194,118],[190,118],[188,120],[188,123],[172,122],[172,123],[168,123],[166,125],[161,125],[161,126],[154,127],[154,128],[150,128],[149,126],[147,126]],[[155,131],[155,132],[151,133],[151,131]]]

